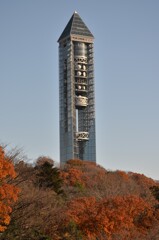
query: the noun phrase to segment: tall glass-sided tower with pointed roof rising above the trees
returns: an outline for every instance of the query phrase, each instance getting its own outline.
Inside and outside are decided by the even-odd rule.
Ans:
[[[94,37],[74,12],[59,42],[60,162],[96,162]]]

